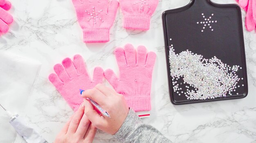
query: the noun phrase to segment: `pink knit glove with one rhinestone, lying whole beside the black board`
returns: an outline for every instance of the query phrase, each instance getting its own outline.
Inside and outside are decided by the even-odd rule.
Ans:
[[[146,48],[139,46],[136,59],[135,49],[127,44],[124,49],[117,48],[115,56],[120,71],[119,79],[111,69],[107,69],[104,76],[117,93],[124,95],[129,107],[135,111],[150,111],[151,78],[156,54],[147,54]]]

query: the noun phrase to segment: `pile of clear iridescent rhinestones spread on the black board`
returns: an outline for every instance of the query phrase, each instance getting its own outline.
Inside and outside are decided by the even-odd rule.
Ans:
[[[216,56],[205,59],[202,55],[194,54],[189,50],[175,54],[173,45],[169,48],[173,91],[178,95],[183,94],[188,100],[214,99],[232,95],[231,92],[240,87],[236,87],[238,81],[243,80],[236,74],[242,69],[239,65],[231,67],[222,63]],[[180,87],[182,84],[186,85],[186,89]]]

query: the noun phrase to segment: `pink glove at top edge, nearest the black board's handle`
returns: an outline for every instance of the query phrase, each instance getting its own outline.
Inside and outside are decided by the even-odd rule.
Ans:
[[[148,30],[157,4],[158,0],[120,0],[124,28]]]

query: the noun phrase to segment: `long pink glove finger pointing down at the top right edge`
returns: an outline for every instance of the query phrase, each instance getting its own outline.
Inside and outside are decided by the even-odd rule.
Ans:
[[[248,31],[252,31],[255,29],[255,23],[252,15],[252,0],[249,0],[248,11],[245,17],[245,27]]]

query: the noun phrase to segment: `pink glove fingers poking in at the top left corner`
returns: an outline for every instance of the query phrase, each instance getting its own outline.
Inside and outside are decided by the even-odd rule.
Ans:
[[[9,24],[13,22],[13,17],[7,13],[11,8],[11,2],[0,0],[0,32],[6,33],[9,30]]]

